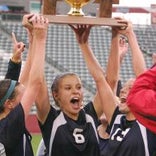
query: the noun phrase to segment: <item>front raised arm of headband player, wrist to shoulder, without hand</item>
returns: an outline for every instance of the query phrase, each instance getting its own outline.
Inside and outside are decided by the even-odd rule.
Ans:
[[[21,102],[26,116],[29,114],[30,108],[33,102],[35,102],[43,82],[45,41],[34,37],[32,51],[34,54],[30,72],[27,75],[26,95],[22,98]]]

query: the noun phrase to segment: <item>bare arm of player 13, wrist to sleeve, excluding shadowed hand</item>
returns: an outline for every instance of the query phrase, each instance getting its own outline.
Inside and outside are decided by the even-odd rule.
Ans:
[[[80,48],[83,53],[83,57],[85,59],[88,70],[96,83],[97,92],[100,98],[100,101],[98,103],[100,103],[102,107],[101,110],[104,111],[108,121],[110,122],[115,107],[113,92],[105,79],[102,67],[94,56],[89,45],[87,43],[80,44]],[[106,99],[109,99],[109,103]],[[100,105],[98,104],[98,107],[95,105],[97,105],[97,103],[94,103],[95,110],[97,110]]]

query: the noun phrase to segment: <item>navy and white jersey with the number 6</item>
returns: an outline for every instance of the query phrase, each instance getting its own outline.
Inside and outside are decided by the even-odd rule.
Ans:
[[[49,156],[100,156],[95,122],[85,108],[74,121],[51,107],[44,125],[39,125]]]

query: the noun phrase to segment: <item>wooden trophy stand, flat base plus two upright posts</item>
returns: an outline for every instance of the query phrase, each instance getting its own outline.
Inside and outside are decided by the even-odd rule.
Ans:
[[[65,0],[78,1],[78,0]],[[83,0],[79,0],[83,1]],[[87,0],[84,0],[87,1]],[[49,19],[50,23],[55,24],[87,24],[87,25],[101,25],[101,26],[119,26],[125,27],[125,24],[118,23],[112,17],[112,5],[119,4],[119,0],[95,0],[94,3],[99,3],[99,17],[90,17],[85,15],[77,15],[70,13],[70,15],[56,15],[57,0],[44,0],[42,12],[43,15]],[[74,10],[74,9],[73,9]]]

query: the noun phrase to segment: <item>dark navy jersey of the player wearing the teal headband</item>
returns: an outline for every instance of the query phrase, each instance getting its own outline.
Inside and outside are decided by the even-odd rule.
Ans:
[[[31,136],[25,128],[21,104],[0,120],[0,142],[7,156],[33,156]]]

